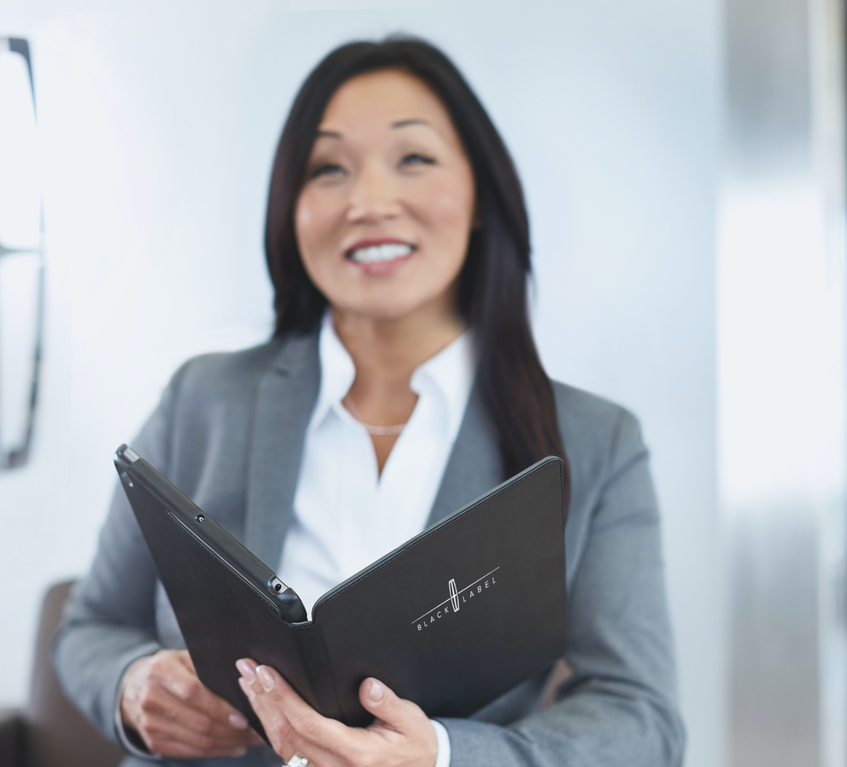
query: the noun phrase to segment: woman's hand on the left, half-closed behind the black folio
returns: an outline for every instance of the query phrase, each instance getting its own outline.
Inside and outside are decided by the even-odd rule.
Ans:
[[[127,672],[120,715],[152,753],[182,759],[243,756],[263,742],[197,679],[186,650],[160,650]]]

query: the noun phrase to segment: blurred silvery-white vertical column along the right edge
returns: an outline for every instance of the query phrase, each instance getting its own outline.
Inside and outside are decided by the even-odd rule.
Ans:
[[[719,472],[735,767],[847,764],[839,0],[727,0]]]

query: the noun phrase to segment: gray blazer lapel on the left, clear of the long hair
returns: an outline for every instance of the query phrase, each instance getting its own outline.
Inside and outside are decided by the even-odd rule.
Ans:
[[[303,443],[319,387],[317,331],[285,339],[257,387],[245,545],[274,571],[291,523]]]

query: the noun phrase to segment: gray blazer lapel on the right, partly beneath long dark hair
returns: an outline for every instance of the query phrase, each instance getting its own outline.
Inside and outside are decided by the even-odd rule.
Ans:
[[[427,527],[495,488],[504,478],[497,436],[479,386],[474,384]]]

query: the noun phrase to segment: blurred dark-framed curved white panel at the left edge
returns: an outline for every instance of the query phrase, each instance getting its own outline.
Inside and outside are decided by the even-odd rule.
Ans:
[[[27,41],[0,37],[0,470],[23,466],[42,348],[42,196]]]

